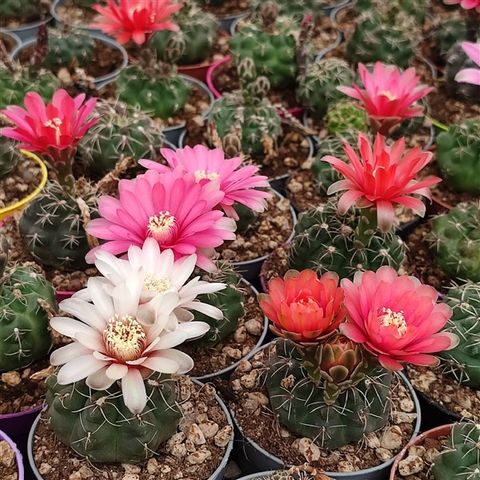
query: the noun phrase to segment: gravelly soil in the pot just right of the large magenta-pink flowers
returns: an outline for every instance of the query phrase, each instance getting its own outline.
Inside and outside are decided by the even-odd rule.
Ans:
[[[225,242],[218,252],[223,260],[244,262],[254,260],[283,245],[293,230],[290,201],[273,195],[268,207],[258,216],[257,221],[245,233],[237,233],[237,238]]]

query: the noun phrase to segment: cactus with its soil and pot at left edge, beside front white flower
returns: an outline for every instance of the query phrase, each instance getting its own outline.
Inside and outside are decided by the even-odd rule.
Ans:
[[[0,429],[22,438],[40,411],[52,348],[49,318],[57,303],[52,285],[32,264],[10,264],[0,242]],[[0,469],[1,471],[1,469]]]

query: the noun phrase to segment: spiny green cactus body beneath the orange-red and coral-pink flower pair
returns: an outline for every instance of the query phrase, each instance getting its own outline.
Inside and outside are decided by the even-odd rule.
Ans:
[[[326,400],[327,380],[311,378],[295,344],[277,340],[275,348],[266,387],[273,411],[290,431],[334,449],[358,442],[387,423],[392,379],[387,370],[378,364],[365,366],[355,386]]]

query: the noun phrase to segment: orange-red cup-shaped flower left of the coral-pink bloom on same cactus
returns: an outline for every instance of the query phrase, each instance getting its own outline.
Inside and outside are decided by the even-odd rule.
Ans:
[[[265,315],[275,334],[296,342],[311,343],[332,334],[345,319],[343,290],[335,273],[320,278],[313,270],[290,270],[268,284],[268,295],[260,294]]]

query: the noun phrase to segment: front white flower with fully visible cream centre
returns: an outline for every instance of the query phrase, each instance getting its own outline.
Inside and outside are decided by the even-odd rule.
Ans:
[[[63,365],[58,383],[68,385],[86,378],[87,385],[105,390],[121,381],[125,405],[141,413],[147,404],[144,379],[153,372],[184,374],[193,360],[173,347],[209,330],[204,322],[178,323],[167,330],[179,302],[166,292],[141,303],[143,283],[131,277],[112,288],[90,278],[86,291],[91,302],[72,297],[60,303],[70,317],[55,317],[51,327],[73,342],[51,355],[52,365]]]

